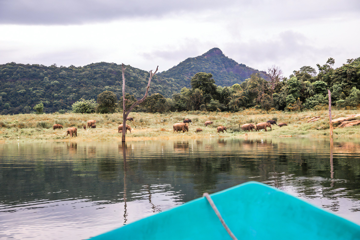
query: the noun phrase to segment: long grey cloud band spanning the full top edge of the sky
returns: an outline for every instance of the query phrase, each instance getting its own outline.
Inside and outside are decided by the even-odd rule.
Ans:
[[[217,18],[224,9],[237,15],[248,10],[253,17],[262,15],[269,19],[304,19],[336,15],[340,12],[360,10],[358,0],[328,1],[237,1],[237,0],[1,0],[0,23],[3,24],[84,24],[114,19],[136,17],[163,17],[172,14],[195,13],[214,10]],[[226,14],[225,14],[226,15]],[[226,16],[225,16],[226,17]]]

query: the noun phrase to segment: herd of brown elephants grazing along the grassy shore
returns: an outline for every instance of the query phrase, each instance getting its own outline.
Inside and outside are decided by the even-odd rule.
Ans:
[[[131,117],[127,117],[126,118],[127,121],[134,121],[133,118]],[[96,120],[89,120],[87,121],[86,125],[84,125],[84,130],[89,130],[89,128],[96,128]],[[186,132],[189,132],[189,123],[192,124],[192,121],[191,119],[188,119],[188,118],[185,118],[183,122],[181,123],[175,123],[173,126],[172,126],[172,129],[173,129],[173,133],[176,131],[176,132],[179,132],[179,131],[183,131],[183,133],[186,131]],[[204,123],[204,125],[207,127],[209,125],[213,124],[212,121],[206,121]],[[262,129],[264,129],[266,132],[267,132],[267,127],[270,127],[270,130],[272,131],[272,128],[271,128],[271,125],[278,125],[276,123],[276,121],[274,120],[269,120],[267,122],[260,122],[260,123],[257,123],[256,125],[253,124],[253,123],[245,123],[243,124],[243,126],[241,127],[241,129],[243,131],[252,131],[253,129],[255,129],[255,131],[260,131]],[[288,124],[286,123],[279,123],[278,125],[279,127],[283,127],[283,126],[288,126]],[[239,124],[239,127],[240,127],[240,124]],[[63,129],[63,125],[61,124],[54,124],[53,126],[53,130],[55,129]],[[125,131],[127,133],[127,130],[129,130],[129,132],[131,133],[131,126],[129,126],[128,124],[126,124],[125,126]],[[118,126],[118,133],[122,133],[123,131],[123,124],[120,124]],[[197,128],[195,132],[202,132],[203,130],[201,128]],[[225,126],[218,126],[217,129],[216,129],[216,132],[219,133],[219,132],[222,132],[224,133],[224,131],[226,131],[226,127]],[[227,132],[227,131],[226,131]],[[64,138],[67,136],[67,135],[70,135],[71,137],[77,137],[77,128],[76,127],[70,127],[68,128],[68,130],[65,132],[64,134]]]

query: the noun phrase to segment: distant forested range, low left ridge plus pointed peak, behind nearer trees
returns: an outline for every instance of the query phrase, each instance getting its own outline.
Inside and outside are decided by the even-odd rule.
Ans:
[[[197,72],[212,73],[221,86],[241,83],[252,73],[258,73],[229,59],[220,49],[211,49],[156,74],[149,94],[159,93],[169,98],[181,88],[190,87],[190,79]],[[128,66],[126,92],[135,98],[142,96],[148,77],[148,71]],[[7,63],[0,65],[0,82],[0,114],[30,113],[40,101],[48,113],[70,110],[80,98],[96,99],[105,90],[114,92],[118,99],[122,97],[121,65],[116,63],[92,63],[84,67]]]

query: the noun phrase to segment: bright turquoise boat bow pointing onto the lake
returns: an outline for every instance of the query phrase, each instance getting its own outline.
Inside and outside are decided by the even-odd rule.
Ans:
[[[360,240],[360,226],[284,191],[247,182],[210,195],[238,240]],[[231,239],[204,197],[91,240]]]

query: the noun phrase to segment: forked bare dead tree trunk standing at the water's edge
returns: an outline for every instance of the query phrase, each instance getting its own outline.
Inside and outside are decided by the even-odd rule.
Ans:
[[[150,70],[150,77],[149,77],[149,82],[148,82],[148,86],[146,87],[146,91],[145,91],[145,95],[143,96],[143,98],[141,98],[140,100],[136,101],[135,103],[133,103],[130,108],[126,111],[126,107],[125,107],[125,70],[126,67],[124,67],[124,64],[122,63],[122,109],[123,109],[123,113],[122,113],[122,137],[121,137],[121,141],[125,142],[125,133],[126,131],[126,118],[127,116],[129,116],[129,113],[131,112],[131,110],[136,107],[137,105],[139,105],[140,103],[142,103],[145,98],[148,96],[148,92],[149,92],[149,88],[150,88],[150,82],[152,77],[155,75],[155,73],[158,71],[158,67],[156,67],[155,72],[153,73],[152,70]]]

